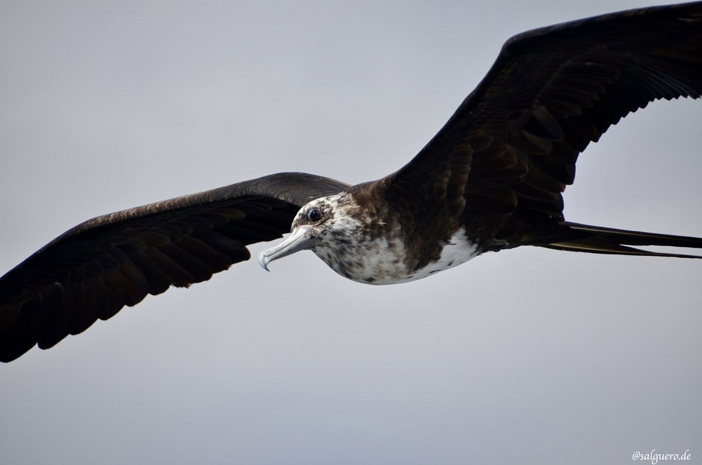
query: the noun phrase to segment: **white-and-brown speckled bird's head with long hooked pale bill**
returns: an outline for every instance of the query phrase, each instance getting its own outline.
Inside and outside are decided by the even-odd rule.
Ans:
[[[360,210],[347,192],[312,200],[298,211],[289,237],[262,251],[258,263],[268,270],[268,263],[310,249],[336,270],[345,249],[362,240],[364,222]]]

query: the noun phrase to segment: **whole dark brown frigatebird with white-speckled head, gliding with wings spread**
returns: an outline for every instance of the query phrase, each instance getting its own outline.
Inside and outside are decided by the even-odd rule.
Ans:
[[[303,249],[369,284],[417,280],[522,245],[599,254],[702,239],[565,221],[576,159],[652,100],[702,93],[702,2],[567,22],[509,39],[437,135],[395,173],[347,185],[277,173],[93,218],[0,278],[0,360],[49,348],[171,285],[263,251]],[[634,246],[634,247],[632,247]]]

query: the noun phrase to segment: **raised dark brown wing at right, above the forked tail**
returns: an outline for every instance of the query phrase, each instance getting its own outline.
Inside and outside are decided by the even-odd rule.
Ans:
[[[578,154],[629,112],[702,93],[702,2],[642,8],[508,40],[449,122],[385,195],[424,199],[413,216],[562,220]],[[436,211],[430,214],[436,215]]]

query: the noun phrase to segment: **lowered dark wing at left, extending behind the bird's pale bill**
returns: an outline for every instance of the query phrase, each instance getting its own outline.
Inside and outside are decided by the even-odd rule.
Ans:
[[[81,223],[0,278],[0,360],[49,348],[147,294],[208,280],[248,260],[246,245],[289,232],[304,204],[345,188],[278,173]]]

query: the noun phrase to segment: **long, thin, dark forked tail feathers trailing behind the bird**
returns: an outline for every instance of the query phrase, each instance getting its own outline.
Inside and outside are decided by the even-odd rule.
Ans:
[[[602,228],[601,226],[565,223],[580,234],[559,242],[544,244],[541,247],[557,250],[590,252],[592,254],[672,256],[679,258],[702,258],[698,255],[669,254],[627,247],[630,245],[654,245],[663,247],[689,247],[702,249],[701,237],[656,234],[655,232],[628,231],[623,229]]]

